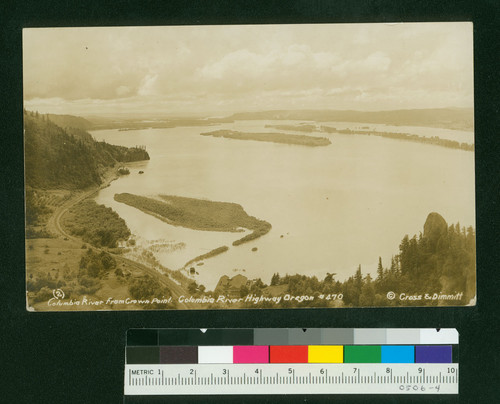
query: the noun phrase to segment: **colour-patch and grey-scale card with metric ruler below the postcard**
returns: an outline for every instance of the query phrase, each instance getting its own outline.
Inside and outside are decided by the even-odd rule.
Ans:
[[[129,330],[124,390],[458,394],[457,348],[452,329]]]

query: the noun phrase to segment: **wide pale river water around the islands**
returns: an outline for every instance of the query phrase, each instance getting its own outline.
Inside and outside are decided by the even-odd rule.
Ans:
[[[145,145],[151,160],[129,164],[130,175],[100,191],[98,203],[127,222],[138,250],[151,251],[170,269],[222,245],[229,251],[196,266],[197,281],[211,290],[222,275],[241,273],[268,283],[275,272],[343,280],[361,264],[373,273],[385,266],[405,234],[418,234],[430,212],[450,223],[475,226],[474,154],[376,136],[311,133],[331,145],[306,147],[200,136],[234,129],[271,132],[266,124],[293,121],[237,121],[207,127],[133,131],[101,130],[97,140]],[[472,132],[329,123],[337,128],[370,127],[440,136],[473,143]],[[283,131],[280,131],[283,132]],[[286,133],[293,133],[286,131]],[[144,171],[139,174],[139,171]],[[242,233],[207,232],[171,226],[114,201],[116,193],[158,194],[235,202],[271,223],[265,236],[238,247]],[[257,247],[257,251],[252,248]]]

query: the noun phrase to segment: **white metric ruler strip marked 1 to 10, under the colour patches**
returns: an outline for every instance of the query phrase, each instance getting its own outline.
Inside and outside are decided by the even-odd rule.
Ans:
[[[127,365],[125,395],[458,394],[458,364]]]

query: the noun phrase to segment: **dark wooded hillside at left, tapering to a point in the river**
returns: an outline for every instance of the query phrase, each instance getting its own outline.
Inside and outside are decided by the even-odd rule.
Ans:
[[[26,187],[81,189],[101,183],[100,174],[117,162],[149,160],[140,148],[97,142],[77,128],[63,129],[47,115],[24,112]]]

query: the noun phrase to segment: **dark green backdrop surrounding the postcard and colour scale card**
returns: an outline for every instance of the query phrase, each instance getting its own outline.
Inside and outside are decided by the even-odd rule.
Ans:
[[[0,2],[0,402],[120,403],[125,331],[151,327],[456,327],[460,402],[499,401],[499,2],[125,1]],[[23,27],[229,23],[473,21],[478,305],[467,308],[28,313],[25,310]],[[50,44],[47,44],[50,46]],[[250,396],[168,402],[456,402],[456,397]],[[136,402],[158,402],[154,400]]]

